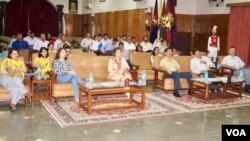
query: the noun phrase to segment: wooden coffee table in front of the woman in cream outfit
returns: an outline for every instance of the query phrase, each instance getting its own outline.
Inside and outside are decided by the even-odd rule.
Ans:
[[[102,84],[108,84],[109,86],[104,86]],[[82,107],[88,114],[92,112],[100,111],[110,111],[110,110],[124,110],[130,108],[139,108],[144,109],[145,105],[145,88],[143,86],[138,86],[137,84],[130,85],[127,88],[124,88],[124,84],[121,82],[103,82],[95,83],[94,88],[88,89],[84,84],[81,84],[80,89],[80,103],[79,106]],[[141,95],[141,100],[137,101],[134,99],[134,94],[139,93]],[[98,100],[97,97],[101,95],[119,95],[124,93],[130,93],[128,99],[105,99]],[[86,100],[84,101],[84,97]],[[94,99],[92,99],[94,97]],[[95,105],[102,104],[114,104],[114,103],[126,103],[125,106],[112,106],[106,108],[93,109]]]

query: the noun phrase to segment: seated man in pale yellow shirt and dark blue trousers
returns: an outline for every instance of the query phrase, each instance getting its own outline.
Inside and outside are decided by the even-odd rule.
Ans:
[[[179,72],[180,65],[173,59],[173,51],[171,48],[166,48],[165,57],[160,61],[160,68],[166,70],[168,73],[165,74],[165,78],[173,78],[174,79],[174,93],[175,97],[180,97],[178,92],[181,89],[180,78],[186,78],[188,81],[188,86],[191,86],[192,75],[189,72]],[[188,91],[190,93],[190,90]]]

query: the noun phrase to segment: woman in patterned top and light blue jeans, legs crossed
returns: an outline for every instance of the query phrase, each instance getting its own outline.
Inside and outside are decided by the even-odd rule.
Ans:
[[[83,83],[83,81],[74,71],[73,65],[67,60],[66,50],[64,48],[57,50],[53,62],[53,70],[57,74],[58,83],[72,83],[75,101],[79,104],[79,84]]]

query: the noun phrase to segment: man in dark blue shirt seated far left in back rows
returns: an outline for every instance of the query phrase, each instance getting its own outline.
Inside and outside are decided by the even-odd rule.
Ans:
[[[12,49],[29,49],[29,44],[28,42],[23,40],[22,33],[17,33],[16,34],[16,41],[13,42],[12,44]]]

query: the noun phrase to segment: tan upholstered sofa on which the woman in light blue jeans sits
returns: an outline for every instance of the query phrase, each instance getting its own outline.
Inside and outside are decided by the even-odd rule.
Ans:
[[[73,64],[76,73],[85,81],[90,72],[94,75],[94,82],[107,81],[108,61],[110,56],[72,55],[69,61]],[[72,97],[74,95],[71,83],[56,83],[56,77],[52,79],[52,98]]]

